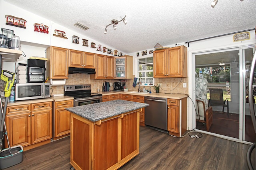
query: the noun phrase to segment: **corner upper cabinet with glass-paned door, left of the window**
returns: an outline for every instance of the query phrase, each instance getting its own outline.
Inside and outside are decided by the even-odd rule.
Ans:
[[[114,77],[115,79],[132,79],[132,60],[133,57],[125,55],[123,57],[115,57],[114,59]]]

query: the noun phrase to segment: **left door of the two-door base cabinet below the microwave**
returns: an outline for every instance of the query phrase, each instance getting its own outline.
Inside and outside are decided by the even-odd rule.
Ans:
[[[10,147],[22,145],[25,147],[31,144],[30,112],[10,114],[6,116],[6,130]],[[6,143],[6,147],[8,147]]]

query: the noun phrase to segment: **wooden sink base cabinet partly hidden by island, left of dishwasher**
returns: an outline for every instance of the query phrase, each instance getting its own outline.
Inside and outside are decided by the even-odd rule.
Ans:
[[[144,103],[144,96],[121,94],[121,99],[132,101],[132,102]],[[142,111],[140,111],[140,126],[145,126],[144,115],[145,115],[145,107],[143,107]]]

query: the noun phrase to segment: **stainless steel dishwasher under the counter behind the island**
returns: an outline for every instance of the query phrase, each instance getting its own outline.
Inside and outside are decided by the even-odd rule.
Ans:
[[[145,97],[145,125],[167,131],[167,98]]]

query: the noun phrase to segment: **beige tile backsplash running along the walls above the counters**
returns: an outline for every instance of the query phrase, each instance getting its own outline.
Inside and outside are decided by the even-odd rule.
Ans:
[[[69,74],[68,79],[66,80],[66,85],[74,85],[74,84],[91,84],[92,92],[97,92],[97,89],[100,89],[102,92],[102,85],[106,82],[110,82],[114,85],[114,82],[117,82],[118,79],[108,79],[108,80],[94,80],[90,79],[89,74]],[[132,86],[133,79],[126,80],[126,88],[129,91],[138,91],[138,86],[135,88]],[[155,84],[162,83],[162,87],[160,87],[160,93],[180,93],[180,94],[188,94],[188,78],[155,78]],[[183,83],[187,83],[187,87],[183,88]],[[51,86],[53,94],[63,94],[64,86]],[[141,86],[141,89],[143,86]],[[148,86],[145,86],[146,89],[149,89]],[[110,90],[113,90],[114,87],[111,86]],[[151,88],[152,92],[155,92],[154,88]]]

